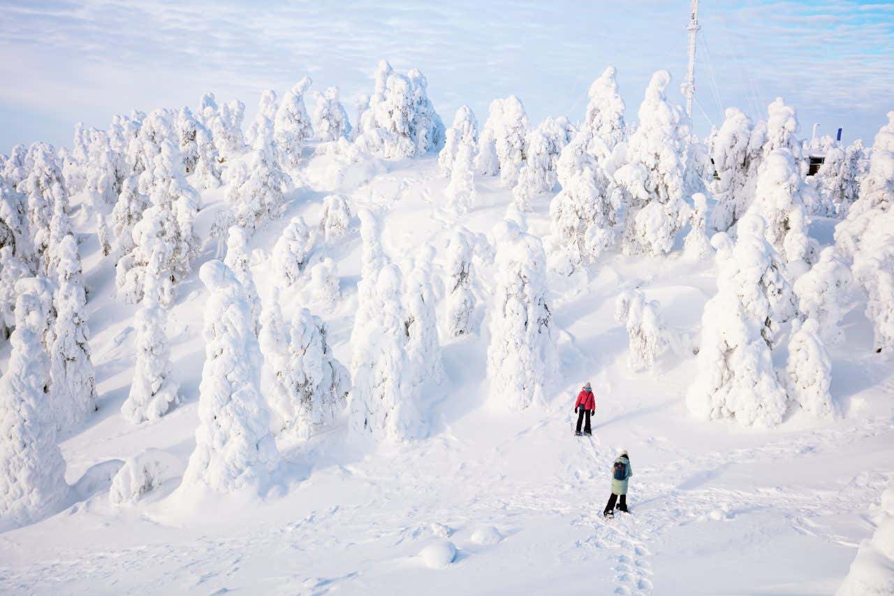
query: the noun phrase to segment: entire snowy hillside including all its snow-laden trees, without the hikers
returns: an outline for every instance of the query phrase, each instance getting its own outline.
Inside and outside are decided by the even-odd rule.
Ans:
[[[302,79],[13,148],[0,591],[894,593],[894,112],[699,139],[615,74],[535,123],[383,62],[358,115]]]

